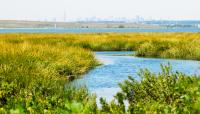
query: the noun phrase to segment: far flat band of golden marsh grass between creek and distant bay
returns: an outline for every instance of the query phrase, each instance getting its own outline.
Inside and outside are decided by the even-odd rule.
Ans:
[[[93,51],[136,51],[140,57],[200,60],[200,33],[0,34],[0,39]]]

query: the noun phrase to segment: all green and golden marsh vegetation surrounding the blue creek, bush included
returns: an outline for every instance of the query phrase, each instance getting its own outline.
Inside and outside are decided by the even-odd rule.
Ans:
[[[158,76],[142,71],[142,82],[125,81],[117,103],[101,99],[102,109],[87,88],[68,85],[98,65],[92,51],[123,50],[200,60],[200,33],[0,34],[0,113],[199,112],[200,79],[168,67]],[[130,103],[128,111],[123,100]]]

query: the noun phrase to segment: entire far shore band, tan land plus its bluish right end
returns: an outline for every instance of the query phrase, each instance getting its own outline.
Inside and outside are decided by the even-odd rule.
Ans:
[[[199,29],[200,21],[141,21],[141,22],[42,22],[0,20],[0,30],[5,29]]]

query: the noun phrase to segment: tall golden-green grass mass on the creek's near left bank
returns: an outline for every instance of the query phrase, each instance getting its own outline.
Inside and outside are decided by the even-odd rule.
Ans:
[[[66,83],[95,65],[82,48],[1,41],[0,113],[93,112],[94,96]]]

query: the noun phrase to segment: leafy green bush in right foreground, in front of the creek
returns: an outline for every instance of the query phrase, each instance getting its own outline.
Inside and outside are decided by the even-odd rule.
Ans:
[[[161,68],[158,74],[141,70],[141,80],[129,77],[120,83],[121,92],[111,103],[100,99],[101,111],[113,114],[200,113],[200,78],[172,72],[170,65]],[[128,101],[127,107],[125,101]]]

